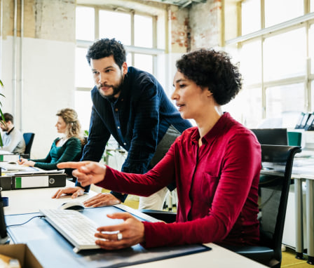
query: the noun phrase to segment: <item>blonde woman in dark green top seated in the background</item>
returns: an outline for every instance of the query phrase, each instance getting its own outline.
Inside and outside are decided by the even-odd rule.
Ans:
[[[81,158],[81,124],[74,109],[61,109],[56,114],[57,133],[63,134],[62,138],[56,138],[51,145],[48,155],[44,159],[21,159],[21,165],[34,166],[43,170],[57,169],[57,163],[66,161],[78,161]]]

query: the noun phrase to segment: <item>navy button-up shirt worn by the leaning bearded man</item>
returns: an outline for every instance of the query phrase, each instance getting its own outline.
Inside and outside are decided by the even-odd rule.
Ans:
[[[128,67],[118,99],[102,97],[96,86],[91,94],[93,109],[82,161],[100,161],[110,135],[113,135],[128,151],[122,171],[146,173],[152,168],[149,163],[168,128],[172,125],[182,133],[191,127],[156,78],[134,67]]]

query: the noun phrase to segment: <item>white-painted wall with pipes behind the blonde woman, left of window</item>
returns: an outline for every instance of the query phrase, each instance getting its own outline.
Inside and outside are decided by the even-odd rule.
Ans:
[[[6,98],[1,101],[2,110],[11,113],[16,110],[13,114],[15,126],[22,126],[23,133],[35,133],[32,158],[42,158],[58,135],[55,129],[57,110],[74,108],[75,44],[25,38],[23,46],[24,88],[20,105],[20,72],[17,77],[16,100],[12,91],[13,38],[8,36],[3,40],[1,80],[4,82],[3,93]]]

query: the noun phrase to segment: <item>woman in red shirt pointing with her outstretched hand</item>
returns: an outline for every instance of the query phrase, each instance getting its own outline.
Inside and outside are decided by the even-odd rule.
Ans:
[[[249,129],[221,108],[240,91],[238,67],[226,53],[212,49],[186,53],[176,66],[172,100],[182,118],[194,119],[196,126],[185,130],[153,169],[128,174],[93,161],[58,165],[76,168],[73,175],[82,186],[94,183],[142,196],[176,182],[176,222],[142,222],[129,213],[107,215],[123,223],[97,229],[95,243],[104,249],[137,243],[146,248],[259,243],[261,147]]]

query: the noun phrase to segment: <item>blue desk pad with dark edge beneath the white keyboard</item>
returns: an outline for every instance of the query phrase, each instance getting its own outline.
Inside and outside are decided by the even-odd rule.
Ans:
[[[106,217],[109,213],[125,212],[118,206],[102,208],[86,208],[83,215],[97,222],[98,225],[112,225],[113,219]],[[132,212],[129,210],[128,212]],[[29,220],[39,213],[6,215],[7,225],[13,225]],[[132,214],[139,220],[144,220],[142,213]],[[74,246],[64,239],[45,219],[34,218],[25,225],[8,227],[8,234],[14,243],[27,243],[37,260],[43,267],[127,267],[129,265],[153,262],[182,255],[189,255],[210,250],[203,245],[186,245],[176,247],[143,248],[139,244],[123,250],[81,250],[74,253]],[[52,254],[53,252],[53,254]],[[55,257],[57,256],[57,257]]]

